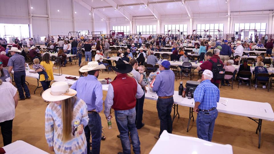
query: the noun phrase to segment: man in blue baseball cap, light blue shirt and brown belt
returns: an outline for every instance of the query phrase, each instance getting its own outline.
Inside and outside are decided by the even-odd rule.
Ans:
[[[168,60],[162,60],[157,62],[159,64],[159,73],[153,84],[152,90],[157,93],[157,111],[160,119],[160,133],[154,136],[155,139],[159,139],[164,130],[168,133],[172,133],[172,119],[170,116],[172,105],[174,103],[174,79],[175,75],[170,70],[170,62]]]

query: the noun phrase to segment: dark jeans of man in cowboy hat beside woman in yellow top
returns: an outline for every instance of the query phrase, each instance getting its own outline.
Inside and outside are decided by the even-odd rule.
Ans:
[[[25,71],[14,72],[13,79],[14,79],[16,87],[18,89],[19,98],[21,98],[21,99],[25,98],[24,91],[25,91],[26,97],[30,97],[31,94],[29,93],[29,88],[26,84],[26,72]],[[23,91],[23,89],[24,89],[24,91]]]

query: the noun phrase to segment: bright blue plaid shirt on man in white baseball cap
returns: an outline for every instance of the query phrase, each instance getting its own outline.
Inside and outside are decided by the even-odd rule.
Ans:
[[[194,91],[194,101],[200,102],[198,108],[201,110],[217,108],[219,99],[220,90],[210,80],[202,81]]]

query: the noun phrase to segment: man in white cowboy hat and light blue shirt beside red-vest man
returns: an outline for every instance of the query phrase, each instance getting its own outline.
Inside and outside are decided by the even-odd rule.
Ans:
[[[88,62],[82,66],[80,72],[88,72],[86,77],[80,77],[70,87],[77,91],[77,97],[86,102],[88,110],[88,125],[84,128],[87,141],[87,153],[100,153],[102,123],[99,112],[103,110],[102,84],[97,80],[100,69],[106,69],[97,61]],[[90,151],[90,133],[92,137],[92,149]]]

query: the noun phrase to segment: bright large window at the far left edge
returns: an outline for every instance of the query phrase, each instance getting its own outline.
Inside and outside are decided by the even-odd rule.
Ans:
[[[4,38],[4,35],[9,37],[23,37],[29,38],[29,25],[27,24],[0,24],[0,37]]]

